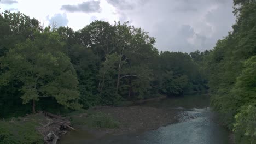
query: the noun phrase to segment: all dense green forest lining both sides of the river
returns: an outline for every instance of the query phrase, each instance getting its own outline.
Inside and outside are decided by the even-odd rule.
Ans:
[[[234,0],[234,15],[233,30],[213,49],[182,53],[159,52],[156,39],[129,22],[96,20],[74,31],[4,11],[0,118],[207,91],[236,142],[254,143],[256,1]]]

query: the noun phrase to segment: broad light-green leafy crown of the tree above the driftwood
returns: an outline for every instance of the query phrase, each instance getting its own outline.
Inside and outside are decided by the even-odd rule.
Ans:
[[[54,97],[59,104],[72,109],[80,107],[75,102],[79,99],[77,75],[58,41],[56,33],[37,33],[34,40],[16,45],[3,58],[8,70],[1,75],[2,85],[11,80],[8,75],[12,74],[12,79],[22,83],[19,91],[24,104],[41,97]]]

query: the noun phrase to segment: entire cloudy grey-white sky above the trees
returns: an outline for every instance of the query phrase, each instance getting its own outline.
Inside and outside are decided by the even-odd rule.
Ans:
[[[232,0],[0,0],[0,11],[20,11],[43,26],[75,31],[95,20],[126,22],[156,38],[159,51],[212,49],[232,30]]]

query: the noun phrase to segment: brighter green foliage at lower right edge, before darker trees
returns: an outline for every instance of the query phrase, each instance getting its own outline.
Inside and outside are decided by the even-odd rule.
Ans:
[[[238,102],[238,113],[235,115],[233,131],[236,132],[238,141],[244,143],[256,142],[256,56],[245,62],[245,69],[237,77],[232,94]],[[246,137],[239,138],[240,135]]]

